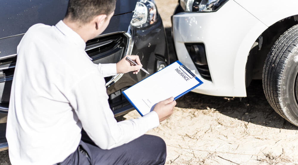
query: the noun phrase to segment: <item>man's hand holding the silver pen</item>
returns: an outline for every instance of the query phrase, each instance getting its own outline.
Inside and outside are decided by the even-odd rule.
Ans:
[[[130,62],[125,60],[126,57],[129,57],[131,60],[134,60],[138,65],[136,66],[132,65]],[[116,63],[117,74],[127,73],[130,71],[134,71],[134,74],[138,74],[142,66],[143,65],[141,64],[139,56],[136,56],[136,55],[125,56],[118,63]]]

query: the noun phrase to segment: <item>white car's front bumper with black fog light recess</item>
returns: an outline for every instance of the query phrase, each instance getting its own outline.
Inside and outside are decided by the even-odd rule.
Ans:
[[[173,38],[178,59],[204,82],[193,92],[245,97],[247,57],[265,29],[265,24],[232,0],[216,12],[174,15]],[[204,43],[212,81],[201,77],[184,43]]]

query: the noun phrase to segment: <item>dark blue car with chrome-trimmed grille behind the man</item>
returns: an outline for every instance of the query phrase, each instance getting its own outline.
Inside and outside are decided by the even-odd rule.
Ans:
[[[62,20],[67,4],[68,0],[0,1],[0,151],[8,149],[5,130],[18,43],[33,24],[55,25]],[[154,0],[117,0],[108,28],[86,43],[86,52],[96,64],[117,63],[133,54],[140,57],[143,68],[150,73],[167,66],[170,57]],[[146,77],[148,74],[139,72],[105,78],[115,116],[134,110],[121,92]]]

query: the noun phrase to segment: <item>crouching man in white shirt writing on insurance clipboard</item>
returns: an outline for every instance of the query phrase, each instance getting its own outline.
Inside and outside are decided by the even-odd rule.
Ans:
[[[104,77],[142,67],[138,56],[94,64],[86,41],[100,35],[116,0],[69,0],[63,21],[35,24],[18,45],[6,137],[12,164],[164,164],[164,141],[144,135],[173,113],[173,97],[117,122]],[[93,141],[81,140],[82,127]]]

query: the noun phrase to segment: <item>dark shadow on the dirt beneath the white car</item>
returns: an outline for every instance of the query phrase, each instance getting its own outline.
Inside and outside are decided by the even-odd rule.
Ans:
[[[212,109],[253,124],[266,127],[298,130],[298,127],[278,115],[267,102],[261,80],[253,80],[247,88],[247,97],[218,97],[190,92],[177,99],[176,107]]]

